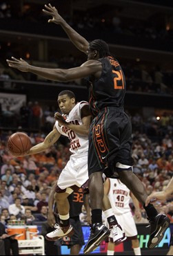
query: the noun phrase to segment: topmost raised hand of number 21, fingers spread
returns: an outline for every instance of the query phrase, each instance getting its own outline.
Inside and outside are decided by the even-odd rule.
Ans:
[[[58,10],[51,6],[51,4],[49,3],[48,6],[45,4],[45,9],[43,9],[43,12],[46,15],[50,15],[52,16],[52,19],[48,20],[48,23],[53,22],[55,24],[61,24],[63,21],[63,18],[59,15]]]

